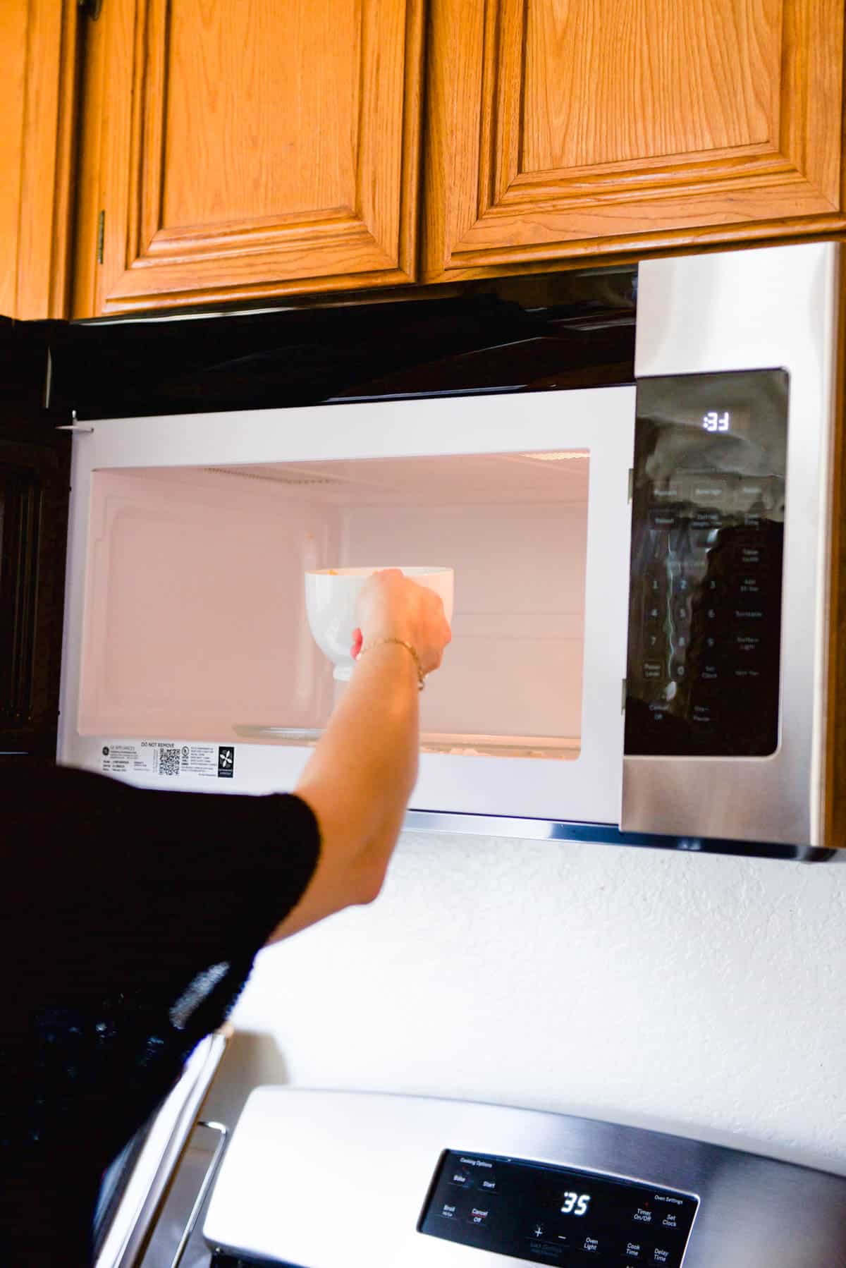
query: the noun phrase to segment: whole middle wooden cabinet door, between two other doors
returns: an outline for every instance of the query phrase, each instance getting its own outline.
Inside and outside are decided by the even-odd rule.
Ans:
[[[109,0],[74,311],[408,281],[421,0]]]

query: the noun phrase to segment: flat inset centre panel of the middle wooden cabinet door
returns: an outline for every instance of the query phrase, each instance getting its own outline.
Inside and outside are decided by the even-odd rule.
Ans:
[[[162,230],[353,208],[360,4],[275,8],[170,0]]]

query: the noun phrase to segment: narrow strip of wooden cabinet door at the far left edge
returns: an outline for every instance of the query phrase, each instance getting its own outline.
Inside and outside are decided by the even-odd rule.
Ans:
[[[67,316],[77,0],[0,0],[0,314]]]

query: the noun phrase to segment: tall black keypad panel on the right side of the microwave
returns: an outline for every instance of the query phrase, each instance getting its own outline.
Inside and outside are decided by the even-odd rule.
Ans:
[[[641,379],[625,753],[779,743],[788,374]]]

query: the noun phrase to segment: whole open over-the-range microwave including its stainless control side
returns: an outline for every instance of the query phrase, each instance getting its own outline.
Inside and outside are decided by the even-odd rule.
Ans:
[[[81,425],[58,760],[289,789],[344,690],[306,571],[448,566],[408,827],[828,857],[841,268],[643,262],[630,385]]]

